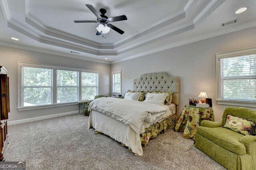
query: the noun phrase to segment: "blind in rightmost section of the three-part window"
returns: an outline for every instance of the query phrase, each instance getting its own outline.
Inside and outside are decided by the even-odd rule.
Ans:
[[[98,73],[82,72],[82,100],[94,100],[98,95]]]

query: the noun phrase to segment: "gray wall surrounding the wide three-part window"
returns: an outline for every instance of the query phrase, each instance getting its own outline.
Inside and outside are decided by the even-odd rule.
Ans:
[[[10,117],[9,121],[66,113],[78,110],[78,105],[51,107],[18,111],[18,61],[36,64],[49,64],[100,71],[100,94],[110,96],[110,64],[96,63],[80,59],[72,59],[58,55],[50,55],[12,47],[0,46],[0,65],[8,70],[10,82]]]

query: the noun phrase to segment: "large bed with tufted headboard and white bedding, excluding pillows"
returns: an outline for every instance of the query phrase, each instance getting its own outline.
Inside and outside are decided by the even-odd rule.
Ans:
[[[146,105],[144,102],[125,101],[125,99],[117,98],[99,98],[94,100],[89,106],[88,128],[93,127],[95,133],[104,133],[122,143],[123,146],[128,147],[136,155],[142,155],[142,145],[146,146],[151,138],[164,133],[170,127],[174,127],[179,104],[179,78],[170,77],[165,72],[142,74],[140,78],[134,80],[133,90],[173,92],[172,102],[168,106],[164,105],[158,108],[154,104]],[[104,104],[106,106],[111,105],[111,111],[104,109]],[[121,112],[137,111],[139,107],[145,108],[146,111],[150,110],[148,111],[150,113],[145,117],[140,115],[140,111],[138,111],[138,114],[127,114],[124,116],[125,119],[122,119],[124,113]],[[126,109],[123,111],[122,108]],[[166,111],[163,110],[164,108]],[[113,109],[118,114],[112,114]],[[154,113],[154,110],[158,112]],[[129,116],[130,118],[127,118]],[[144,118],[141,119],[141,117]],[[134,122],[139,122],[140,126],[134,126]]]

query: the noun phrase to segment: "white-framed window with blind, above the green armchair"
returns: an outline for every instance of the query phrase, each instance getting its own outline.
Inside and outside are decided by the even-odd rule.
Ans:
[[[256,49],[217,54],[218,102],[256,106]],[[236,104],[237,105],[237,104]]]

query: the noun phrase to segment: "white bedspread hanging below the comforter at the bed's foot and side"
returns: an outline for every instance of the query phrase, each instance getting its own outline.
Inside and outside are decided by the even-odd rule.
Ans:
[[[166,106],[166,105],[165,105]],[[88,128],[93,127],[95,131],[104,133],[105,135],[110,136],[116,141],[123,143],[126,147],[130,147],[132,152],[142,155],[142,145],[140,141],[140,134],[145,132],[145,128],[150,127],[150,125],[160,122],[166,117],[175,114],[175,105],[168,105],[170,107],[170,112],[165,113],[164,115],[158,117],[153,123],[148,123],[147,121],[143,122],[143,125],[140,129],[140,133],[136,133],[128,125],[104,115],[98,111],[92,110],[89,116]],[[100,120],[100,121],[98,121]],[[106,123],[107,122],[107,123]]]

